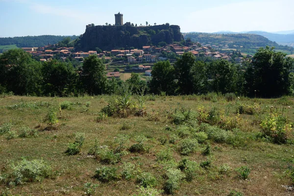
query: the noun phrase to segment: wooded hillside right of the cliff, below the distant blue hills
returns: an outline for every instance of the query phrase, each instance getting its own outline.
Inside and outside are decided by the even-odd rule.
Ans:
[[[191,38],[193,42],[213,43],[222,45],[239,45],[245,48],[266,47],[279,45],[269,39],[256,34],[212,34],[212,33],[184,33],[184,38]]]

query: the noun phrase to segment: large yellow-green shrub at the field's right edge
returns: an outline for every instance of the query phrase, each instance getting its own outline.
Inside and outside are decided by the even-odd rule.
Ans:
[[[285,144],[291,135],[292,125],[282,115],[270,114],[260,124],[262,133],[277,144]]]

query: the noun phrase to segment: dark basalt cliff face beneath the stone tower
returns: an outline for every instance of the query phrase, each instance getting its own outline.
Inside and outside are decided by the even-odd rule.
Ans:
[[[142,48],[143,46],[156,46],[160,42],[171,44],[183,40],[178,25],[154,26],[90,26],[76,42],[77,50],[111,50],[129,47]]]

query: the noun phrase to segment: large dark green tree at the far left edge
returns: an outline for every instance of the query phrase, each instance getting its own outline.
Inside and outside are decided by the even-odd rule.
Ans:
[[[41,63],[23,49],[10,49],[0,55],[0,86],[16,95],[41,95]]]

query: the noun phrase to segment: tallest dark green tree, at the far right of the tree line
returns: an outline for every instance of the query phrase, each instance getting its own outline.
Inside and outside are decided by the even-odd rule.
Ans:
[[[294,59],[273,51],[274,48],[260,48],[245,74],[246,90],[249,96],[278,97],[291,92],[289,75],[294,68]]]

